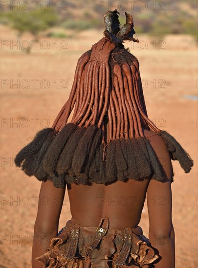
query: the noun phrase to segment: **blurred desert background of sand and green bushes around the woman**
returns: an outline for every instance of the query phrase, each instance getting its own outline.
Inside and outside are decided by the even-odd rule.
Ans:
[[[187,174],[172,162],[172,212],[176,268],[198,267],[197,1],[37,1],[35,10],[33,2],[1,1],[0,267],[31,267],[41,182],[17,169],[14,157],[37,131],[51,127],[78,58],[103,37],[103,16],[114,9],[121,26],[125,12],[133,15],[140,43],[125,46],[139,60],[149,118],[194,160]],[[59,230],[70,217],[66,191]],[[146,202],[139,225],[148,236]]]

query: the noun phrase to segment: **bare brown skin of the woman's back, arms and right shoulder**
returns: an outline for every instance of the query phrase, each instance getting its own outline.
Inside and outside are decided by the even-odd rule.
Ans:
[[[67,185],[70,211],[77,223],[98,226],[101,217],[108,216],[111,229],[133,228],[140,222],[144,202],[149,212],[149,241],[159,251],[156,268],[175,268],[175,233],[172,223],[172,166],[163,139],[153,131],[144,134],[162,163],[168,180],[158,182],[145,178],[143,181],[129,179],[110,185],[93,183],[87,185]],[[52,200],[46,206],[39,202],[34,227],[32,267],[42,268],[34,257],[41,256],[53,237],[58,234],[59,217],[66,189],[55,188],[52,182],[42,182],[40,200]],[[42,199],[43,198],[43,199]],[[56,200],[56,202],[54,201]],[[58,200],[58,201],[57,201]],[[42,239],[44,236],[47,239]],[[41,241],[43,243],[41,243]]]

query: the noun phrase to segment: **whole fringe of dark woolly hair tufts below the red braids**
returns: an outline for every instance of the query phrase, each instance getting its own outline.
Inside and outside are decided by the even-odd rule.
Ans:
[[[171,158],[178,160],[184,171],[189,172],[193,166],[189,154],[172,135],[166,131],[159,134]],[[149,139],[121,138],[110,140],[108,144],[101,141],[102,130],[96,125],[86,128],[68,123],[58,134],[54,129],[40,131],[18,153],[15,161],[29,176],[35,175],[40,181],[48,179],[57,188],[65,188],[66,182],[107,185],[116,180],[146,177],[166,181],[162,164]],[[173,182],[175,173],[172,173]]]

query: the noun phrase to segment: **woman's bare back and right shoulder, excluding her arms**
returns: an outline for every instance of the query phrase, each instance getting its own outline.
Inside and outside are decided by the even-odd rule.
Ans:
[[[162,138],[153,131],[144,130],[144,133],[163,166],[166,162],[165,172],[171,178],[171,160]],[[140,221],[149,182],[150,178],[117,181],[110,185],[67,184],[71,215],[85,226],[97,226],[101,217],[108,216],[110,228],[133,228]]]

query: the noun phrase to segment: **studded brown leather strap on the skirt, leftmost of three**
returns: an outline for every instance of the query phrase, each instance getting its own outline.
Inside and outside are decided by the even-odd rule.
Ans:
[[[78,247],[80,224],[76,224],[75,226],[70,227],[70,231],[71,231],[71,241],[69,243],[69,247],[67,249],[65,258],[73,260]]]

